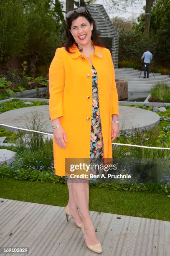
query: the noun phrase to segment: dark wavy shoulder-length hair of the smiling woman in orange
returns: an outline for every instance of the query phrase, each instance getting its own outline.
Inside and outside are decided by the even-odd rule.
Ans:
[[[73,10],[75,10],[74,8]],[[89,12],[89,11],[88,11]],[[84,13],[76,13],[74,12],[69,18],[66,18],[66,40],[63,41],[62,46],[66,48],[66,51],[69,53],[72,53],[69,51],[69,48],[73,46],[73,44],[76,44],[77,48],[79,48],[78,44],[74,40],[74,37],[72,36],[69,29],[71,29],[71,24],[73,20],[76,20],[79,16],[85,17],[89,23],[93,23],[93,30],[91,31],[91,40],[93,41],[93,44],[96,46],[104,47],[103,42],[101,41],[100,32],[96,28],[96,23],[94,19],[87,13],[86,11]],[[83,51],[83,49],[79,49],[79,51]]]

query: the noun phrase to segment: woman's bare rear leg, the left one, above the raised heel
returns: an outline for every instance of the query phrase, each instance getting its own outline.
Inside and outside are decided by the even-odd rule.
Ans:
[[[77,223],[82,223],[82,218],[79,215],[79,211],[77,209],[76,202],[74,201],[73,192],[72,192],[72,179],[68,177],[67,179],[67,186],[69,189],[69,202],[68,207],[70,210],[70,214],[73,216],[74,220]]]

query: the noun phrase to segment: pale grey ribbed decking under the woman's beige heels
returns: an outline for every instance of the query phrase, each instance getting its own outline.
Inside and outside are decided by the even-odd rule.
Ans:
[[[103,248],[101,255],[170,255],[170,222],[89,213]],[[0,247],[28,247],[29,253],[20,255],[31,256],[94,255],[74,220],[67,223],[64,207],[0,198],[0,216]]]

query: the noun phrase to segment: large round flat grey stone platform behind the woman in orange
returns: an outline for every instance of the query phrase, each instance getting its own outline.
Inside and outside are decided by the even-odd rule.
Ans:
[[[26,128],[26,125],[30,124],[30,119],[32,116],[37,115],[38,117],[42,117],[41,120],[44,123],[43,131],[47,133],[53,133],[51,121],[49,120],[48,108],[48,105],[42,105],[10,110],[0,114],[0,123],[20,128]],[[159,115],[152,111],[119,105],[120,131],[134,131],[135,128],[139,128],[139,131],[142,131],[142,129],[147,126],[148,128],[152,128],[158,125],[159,120]],[[0,124],[0,126],[2,125]],[[15,128],[5,127],[5,129],[9,131],[16,131]]]

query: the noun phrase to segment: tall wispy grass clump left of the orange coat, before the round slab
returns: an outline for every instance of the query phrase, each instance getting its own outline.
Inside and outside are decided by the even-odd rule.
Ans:
[[[28,119],[26,128],[35,131],[46,132],[46,121],[43,122],[43,114],[33,113]],[[53,161],[53,137],[45,138],[42,133],[30,132],[20,138],[15,143],[18,157],[16,162],[22,162],[23,166],[33,167],[33,169],[47,169]]]

